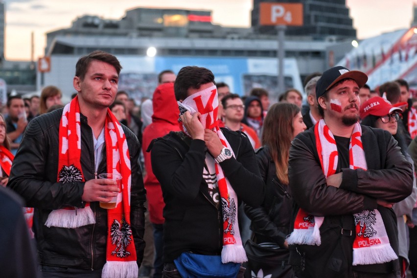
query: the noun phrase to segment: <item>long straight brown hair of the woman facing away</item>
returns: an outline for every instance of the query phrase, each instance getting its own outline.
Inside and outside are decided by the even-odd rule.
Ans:
[[[300,108],[292,103],[275,103],[263,121],[262,144],[274,160],[279,181],[288,185],[288,156],[294,134],[293,119]]]

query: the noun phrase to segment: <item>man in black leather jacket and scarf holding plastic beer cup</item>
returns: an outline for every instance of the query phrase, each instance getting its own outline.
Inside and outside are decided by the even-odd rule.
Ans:
[[[109,53],[81,57],[78,95],[31,120],[14,159],[8,186],[35,208],[44,278],[138,277],[145,202],[139,141],[108,109],[120,70]],[[121,175],[120,187],[101,173]],[[100,208],[115,196],[115,209]]]

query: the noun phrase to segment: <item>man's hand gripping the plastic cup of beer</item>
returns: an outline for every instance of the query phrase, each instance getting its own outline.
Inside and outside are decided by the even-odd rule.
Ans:
[[[110,202],[118,193],[117,182],[108,179],[93,179],[84,185],[81,199],[85,202]]]

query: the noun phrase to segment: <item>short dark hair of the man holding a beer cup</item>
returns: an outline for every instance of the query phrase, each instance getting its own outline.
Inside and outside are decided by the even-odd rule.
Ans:
[[[75,76],[78,76],[81,80],[84,80],[88,67],[94,60],[112,65],[115,67],[117,75],[122,69],[122,66],[120,65],[120,62],[117,60],[116,56],[101,50],[95,50],[87,56],[82,56],[80,59],[78,59],[78,62],[75,65]]]

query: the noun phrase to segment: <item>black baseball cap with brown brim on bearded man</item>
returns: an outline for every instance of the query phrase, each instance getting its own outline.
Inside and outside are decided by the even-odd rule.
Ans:
[[[359,70],[348,70],[342,66],[336,66],[323,72],[322,77],[316,84],[316,98],[322,96],[327,90],[333,87],[334,84],[343,79],[353,79],[362,88],[368,81],[368,75]]]

